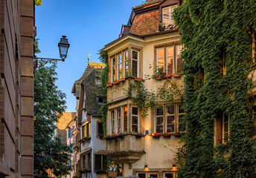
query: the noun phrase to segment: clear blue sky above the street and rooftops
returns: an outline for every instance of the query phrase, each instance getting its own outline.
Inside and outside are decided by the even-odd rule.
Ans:
[[[75,111],[71,88],[86,69],[88,54],[91,62],[100,62],[98,50],[118,38],[132,7],[142,1],[44,0],[41,7],[36,7],[36,38],[42,51],[37,56],[60,59],[57,44],[63,35],[70,44],[67,59],[57,65],[57,86],[67,95],[67,112]]]

